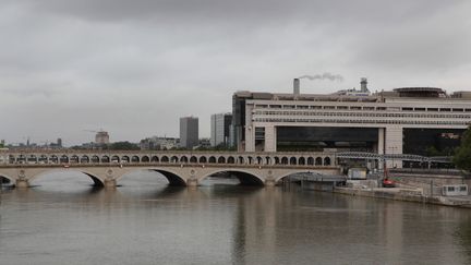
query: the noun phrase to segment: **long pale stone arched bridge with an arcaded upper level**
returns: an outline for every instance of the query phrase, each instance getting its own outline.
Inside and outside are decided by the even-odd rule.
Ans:
[[[274,185],[301,172],[338,174],[335,153],[234,153],[234,152],[120,152],[24,150],[0,153],[0,176],[28,186],[52,171],[78,171],[96,185],[116,186],[126,173],[153,170],[171,185],[197,185],[207,177],[228,172],[241,184]]]

